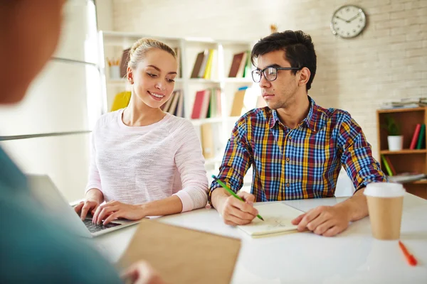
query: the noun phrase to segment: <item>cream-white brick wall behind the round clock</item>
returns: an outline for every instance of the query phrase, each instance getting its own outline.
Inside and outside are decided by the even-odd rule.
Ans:
[[[330,31],[332,13],[346,2],[368,18],[351,40]],[[318,63],[309,94],[322,107],[349,111],[376,157],[379,104],[427,95],[427,0],[113,0],[116,31],[258,40],[271,23],[312,36]]]

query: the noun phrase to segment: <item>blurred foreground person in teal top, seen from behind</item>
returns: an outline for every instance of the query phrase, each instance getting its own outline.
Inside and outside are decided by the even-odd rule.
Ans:
[[[17,104],[58,43],[64,0],[0,0],[0,104]],[[13,121],[10,121],[13,123]],[[144,261],[122,278],[97,251],[43,214],[0,148],[0,283],[162,283]]]

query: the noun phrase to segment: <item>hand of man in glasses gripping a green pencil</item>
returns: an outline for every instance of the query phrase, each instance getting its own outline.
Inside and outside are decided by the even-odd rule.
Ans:
[[[244,202],[236,197],[229,196],[218,208],[224,223],[232,226],[249,224],[258,215],[258,210],[253,207],[255,196],[248,192],[238,192],[237,195]]]

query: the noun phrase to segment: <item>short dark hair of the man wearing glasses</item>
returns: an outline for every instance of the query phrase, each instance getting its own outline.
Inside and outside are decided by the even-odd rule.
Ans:
[[[307,67],[310,70],[310,79],[306,85],[309,90],[316,74],[315,45],[313,45],[310,35],[303,31],[284,31],[261,38],[252,49],[253,65],[258,56],[276,50],[285,51],[285,59],[290,62],[291,67]],[[297,70],[291,70],[291,72],[295,75]]]

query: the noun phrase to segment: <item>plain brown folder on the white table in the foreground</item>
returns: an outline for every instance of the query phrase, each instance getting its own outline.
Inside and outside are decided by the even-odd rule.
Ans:
[[[241,240],[144,219],[118,263],[148,261],[166,283],[230,283]]]

